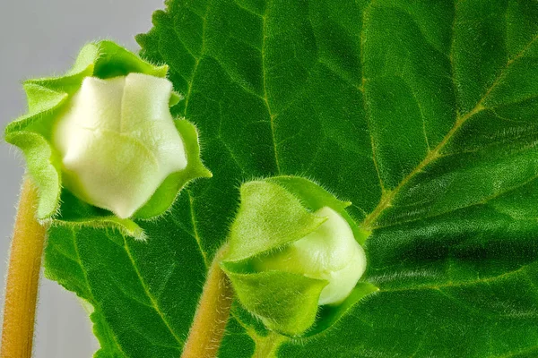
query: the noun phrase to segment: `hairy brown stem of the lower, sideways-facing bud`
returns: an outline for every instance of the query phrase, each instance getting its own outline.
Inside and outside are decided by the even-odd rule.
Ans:
[[[181,358],[214,358],[219,352],[233,301],[230,280],[219,266],[226,248],[226,245],[222,246],[209,268]]]

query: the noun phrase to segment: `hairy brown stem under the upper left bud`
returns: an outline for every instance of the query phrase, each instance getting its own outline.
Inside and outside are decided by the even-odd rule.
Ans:
[[[5,286],[1,358],[30,358],[46,228],[36,219],[38,191],[27,178],[19,209]]]

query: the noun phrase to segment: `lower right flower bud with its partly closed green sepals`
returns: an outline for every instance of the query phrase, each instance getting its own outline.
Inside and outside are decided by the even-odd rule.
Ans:
[[[346,212],[349,202],[293,176],[245,183],[240,192],[221,267],[239,302],[267,328],[315,334],[377,291],[360,282],[369,233]]]

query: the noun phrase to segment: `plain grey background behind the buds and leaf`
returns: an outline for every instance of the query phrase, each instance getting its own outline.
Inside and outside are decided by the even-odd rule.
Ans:
[[[21,81],[65,72],[88,41],[110,38],[137,50],[162,0],[0,0],[0,127],[25,112]],[[22,156],[0,144],[0,287],[23,173]],[[0,306],[4,306],[4,295]],[[98,343],[74,294],[42,278],[36,358],[91,357]]]

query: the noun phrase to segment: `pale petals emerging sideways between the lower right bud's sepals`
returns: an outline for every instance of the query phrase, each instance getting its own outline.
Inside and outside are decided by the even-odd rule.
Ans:
[[[278,270],[329,282],[318,304],[339,304],[345,300],[366,269],[366,255],[355,240],[351,227],[328,207],[317,210],[325,223],[305,237],[253,260],[257,271]]]

